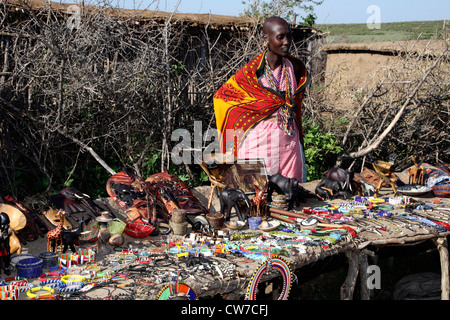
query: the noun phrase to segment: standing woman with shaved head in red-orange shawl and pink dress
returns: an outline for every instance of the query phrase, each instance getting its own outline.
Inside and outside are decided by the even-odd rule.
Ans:
[[[301,105],[310,79],[304,63],[289,54],[289,24],[264,21],[266,49],[214,95],[221,152],[238,159],[263,158],[269,175],[306,181]]]

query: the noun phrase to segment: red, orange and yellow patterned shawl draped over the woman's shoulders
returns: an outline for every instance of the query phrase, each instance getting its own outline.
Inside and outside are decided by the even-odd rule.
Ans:
[[[226,152],[231,142],[236,156],[237,149],[247,132],[286,103],[284,98],[276,94],[276,91],[267,89],[258,82],[257,71],[264,67],[264,55],[265,51],[241,68],[214,95],[214,112],[222,153]],[[304,89],[310,79],[301,60],[292,56],[288,59],[298,61],[301,65],[302,74],[293,100],[297,105],[297,127],[300,140],[303,142],[301,105]],[[233,132],[234,135],[231,134]]]

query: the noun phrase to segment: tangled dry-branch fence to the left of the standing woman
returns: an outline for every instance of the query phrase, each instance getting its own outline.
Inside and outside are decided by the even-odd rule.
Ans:
[[[86,6],[76,21],[42,3],[0,4],[1,194],[170,169],[172,131],[215,128],[214,92],[262,50],[256,20],[221,29]]]

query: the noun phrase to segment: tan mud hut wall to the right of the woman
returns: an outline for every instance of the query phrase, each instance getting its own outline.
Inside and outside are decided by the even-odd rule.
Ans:
[[[434,41],[399,41],[368,44],[331,44],[325,45],[324,87],[334,108],[354,110],[361,103],[362,92],[369,91],[377,84],[386,81],[390,74],[404,68],[417,59],[415,69],[425,70],[443,47],[441,40]],[[424,49],[425,48],[425,49]],[[408,62],[406,60],[409,59]],[[416,63],[416,62],[414,62]],[[444,66],[449,68],[448,60]],[[405,75],[406,75],[405,70]],[[409,76],[415,75],[414,73]],[[399,82],[407,79],[399,79]]]

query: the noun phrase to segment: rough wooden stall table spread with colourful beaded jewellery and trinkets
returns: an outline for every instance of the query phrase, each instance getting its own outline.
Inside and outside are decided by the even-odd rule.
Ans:
[[[384,198],[387,197],[389,196],[384,195]],[[314,225],[310,226],[310,229],[297,229],[297,233],[292,232],[301,219],[291,219],[291,223],[280,220],[280,227],[271,231],[252,230],[247,225],[241,230],[229,230],[228,234],[216,234],[215,239],[204,234],[188,234],[185,237],[160,234],[144,239],[125,235],[124,245],[112,248],[111,253],[97,253],[95,259],[88,263],[68,268],[70,274],[85,275],[88,280],[84,281],[82,286],[60,284],[56,289],[61,291],[59,297],[63,299],[155,300],[173,298],[177,293],[179,298],[221,295],[225,299],[251,299],[255,297],[258,283],[281,276],[287,282],[284,282],[279,291],[274,290],[273,298],[289,298],[289,287],[302,267],[334,255],[345,254],[348,257],[349,270],[341,287],[341,298],[352,299],[358,276],[363,278],[361,283],[365,283],[367,257],[373,254],[370,250],[372,247],[432,240],[438,246],[441,257],[442,299],[448,300],[448,230],[444,231],[445,227],[437,230],[423,221],[408,220],[407,216],[412,213],[405,211],[403,205],[398,205],[400,203],[397,203],[394,210],[380,210],[383,209],[382,205],[389,203],[379,204],[378,210],[372,211],[372,217],[367,212],[364,216],[361,216],[360,211],[350,213],[350,209],[361,208],[363,205],[355,199],[335,199],[327,202],[309,199],[300,208],[294,208],[292,213],[315,216],[326,226],[323,229],[317,227],[319,231],[328,231],[326,235],[317,238],[311,234],[308,237],[308,232],[314,230]],[[400,201],[403,197],[391,199]],[[443,206],[447,202],[448,200],[442,199]],[[339,212],[340,209],[345,214],[341,214],[339,219],[332,219],[332,216],[325,217],[323,213],[315,214],[321,211],[319,207],[327,209],[329,213]],[[427,212],[416,208],[414,211],[417,211],[416,217],[421,216],[423,219],[425,216],[430,218],[430,215],[436,218],[439,214],[437,212],[440,212]],[[388,216],[387,212],[391,213],[391,216]],[[448,222],[447,212],[440,213],[442,221]],[[284,216],[286,217],[289,219]],[[334,218],[337,217],[335,214]],[[398,219],[389,220],[393,218]],[[336,232],[331,234],[332,237],[330,230]],[[299,241],[301,237],[303,240]],[[228,240],[225,240],[226,238]],[[24,249],[24,254],[31,253],[27,253],[27,247]],[[45,251],[43,248],[42,250]],[[267,263],[269,250],[273,262],[270,265]],[[37,255],[39,252],[33,253]],[[49,270],[45,272],[49,273]],[[54,273],[49,274],[47,278],[50,278],[50,275]],[[12,274],[8,280],[23,280],[12,280],[14,276],[15,274]],[[28,279],[28,283],[35,288],[49,287],[47,283],[42,283],[42,277],[40,278]],[[46,280],[50,280],[47,278]],[[22,290],[25,290],[24,288],[26,285],[22,283]],[[369,299],[368,289],[365,286],[361,288],[361,298]],[[56,289],[54,292],[58,292]],[[19,293],[18,299],[36,299],[39,298],[39,293],[43,294],[42,299],[52,296],[51,290],[34,290],[36,292],[30,293],[33,297]]]

